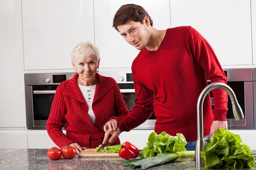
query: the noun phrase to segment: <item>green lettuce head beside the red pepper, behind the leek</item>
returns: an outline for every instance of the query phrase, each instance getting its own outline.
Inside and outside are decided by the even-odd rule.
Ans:
[[[186,151],[186,143],[186,139],[181,133],[177,133],[177,136],[171,136],[166,132],[159,135],[152,132],[148,136],[147,147],[144,147],[139,155],[141,158],[150,158],[165,152]]]

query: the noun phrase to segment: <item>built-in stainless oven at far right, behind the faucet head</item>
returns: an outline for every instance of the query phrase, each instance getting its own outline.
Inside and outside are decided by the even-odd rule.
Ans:
[[[227,123],[228,129],[253,129],[253,69],[252,68],[232,68],[223,69],[227,76],[227,85],[236,94],[237,101],[244,113],[244,119],[236,121],[232,112],[232,104],[228,97]],[[208,84],[210,82],[208,81]],[[212,108],[214,108],[214,98],[210,92]]]

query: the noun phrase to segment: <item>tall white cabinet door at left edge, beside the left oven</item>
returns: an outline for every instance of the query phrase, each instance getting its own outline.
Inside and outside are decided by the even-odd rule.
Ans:
[[[19,0],[0,1],[0,23],[0,127],[26,127],[22,17]]]

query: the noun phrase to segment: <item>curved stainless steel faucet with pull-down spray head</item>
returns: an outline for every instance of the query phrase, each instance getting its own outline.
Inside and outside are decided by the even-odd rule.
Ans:
[[[195,167],[198,169],[204,167],[204,159],[201,158],[200,152],[204,152],[207,145],[207,143],[205,143],[204,141],[203,103],[207,94],[215,88],[221,88],[225,90],[227,94],[230,96],[234,118],[236,120],[244,119],[244,114],[240,105],[237,102],[236,95],[228,85],[221,82],[214,82],[207,85],[207,87],[204,88],[204,90],[201,92],[201,94],[198,97],[198,103],[197,103],[198,139],[196,141],[196,146],[195,146]],[[210,136],[209,135],[205,136],[205,139],[209,140]]]

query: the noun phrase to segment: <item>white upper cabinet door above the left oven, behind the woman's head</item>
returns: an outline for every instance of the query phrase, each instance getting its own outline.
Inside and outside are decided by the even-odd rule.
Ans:
[[[22,0],[25,70],[67,69],[71,50],[94,42],[93,0]]]

